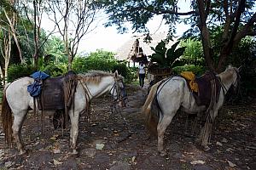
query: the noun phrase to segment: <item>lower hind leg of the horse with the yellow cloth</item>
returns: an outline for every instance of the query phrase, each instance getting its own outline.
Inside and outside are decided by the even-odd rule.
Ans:
[[[161,113],[160,113],[161,114]],[[157,149],[160,152],[160,156],[166,156],[166,150],[164,150],[164,134],[166,132],[166,128],[172,122],[172,118],[175,114],[171,116],[162,116],[160,122],[157,125],[157,133],[158,133],[158,144]]]

